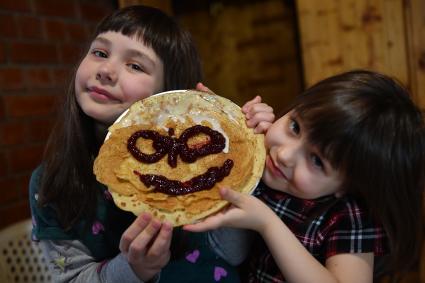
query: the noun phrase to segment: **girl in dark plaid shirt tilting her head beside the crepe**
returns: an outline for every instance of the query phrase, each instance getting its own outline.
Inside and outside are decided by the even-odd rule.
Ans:
[[[260,119],[250,117],[255,105],[244,109],[248,123]],[[375,72],[343,73],[307,89],[263,128],[267,157],[256,197],[222,188],[232,206],[186,230],[258,232],[249,282],[372,282],[383,255],[386,270],[416,262],[425,125],[405,88]],[[247,253],[241,236],[219,229],[210,241],[237,262]]]

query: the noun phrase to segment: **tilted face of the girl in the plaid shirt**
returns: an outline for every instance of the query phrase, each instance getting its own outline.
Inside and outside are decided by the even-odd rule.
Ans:
[[[320,152],[307,143],[301,121],[291,111],[266,134],[263,181],[272,189],[302,199],[339,193],[342,178]]]

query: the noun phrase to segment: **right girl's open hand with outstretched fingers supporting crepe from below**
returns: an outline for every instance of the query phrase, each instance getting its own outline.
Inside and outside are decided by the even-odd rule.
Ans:
[[[276,217],[270,208],[251,195],[242,194],[228,188],[220,188],[220,195],[229,201],[231,206],[202,222],[183,226],[184,230],[203,232],[219,227],[245,228],[262,231],[267,219]]]

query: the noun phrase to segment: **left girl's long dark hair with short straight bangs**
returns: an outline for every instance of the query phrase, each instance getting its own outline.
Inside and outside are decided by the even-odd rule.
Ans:
[[[202,80],[190,34],[160,10],[147,6],[118,10],[99,23],[92,39],[107,31],[142,39],[156,52],[164,65],[163,91],[195,88]],[[54,205],[64,229],[95,215],[98,188],[92,168],[101,141],[95,121],[76,101],[73,79],[46,145],[39,190],[39,204]]]

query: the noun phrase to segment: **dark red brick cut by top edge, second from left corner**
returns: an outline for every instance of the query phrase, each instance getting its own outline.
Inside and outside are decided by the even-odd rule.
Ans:
[[[41,15],[64,18],[76,17],[76,1],[35,0],[35,10]]]

